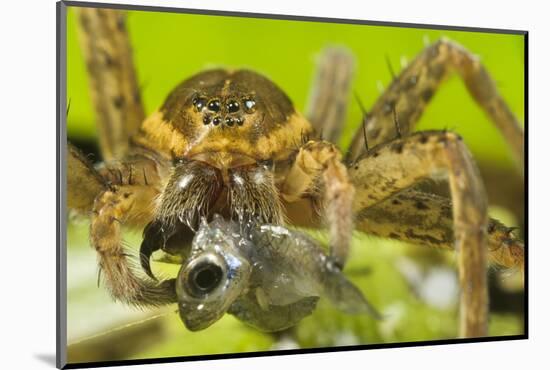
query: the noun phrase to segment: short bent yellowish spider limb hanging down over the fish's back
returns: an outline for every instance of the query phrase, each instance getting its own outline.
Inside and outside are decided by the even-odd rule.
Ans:
[[[336,146],[326,141],[304,144],[280,189],[287,202],[312,197],[320,203],[330,233],[330,255],[343,267],[353,231],[354,189]]]

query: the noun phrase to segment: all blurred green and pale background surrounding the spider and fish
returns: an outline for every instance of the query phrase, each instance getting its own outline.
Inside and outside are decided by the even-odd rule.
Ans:
[[[96,139],[96,130],[75,21],[70,10],[68,136],[90,141]],[[523,122],[524,37],[521,35],[141,11],[129,12],[128,29],[147,113],[155,110],[181,80],[215,66],[246,67],[267,75],[303,111],[316,60],[320,51],[329,45],[345,45],[353,52],[356,57],[353,90],[366,106],[371,106],[381,88],[391,82],[386,57],[398,72],[402,62],[412,60],[426,42],[447,37],[481,58],[512,111]],[[352,102],[340,143],[342,148],[360,122],[359,107]],[[512,170],[514,162],[506,144],[457,76],[442,86],[427,107],[419,129],[427,128],[452,128],[463,135],[478,161]],[[511,224],[516,221],[504,210],[494,212]],[[314,235],[324,238],[321,233]],[[139,245],[139,233],[126,239],[132,246]],[[136,312],[115,304],[102,288],[97,288],[97,267],[93,251],[88,247],[87,221],[77,220],[69,225],[68,244],[68,334],[69,342],[76,343],[70,347],[70,360],[254,351],[282,343],[279,338],[258,333],[229,316],[205,331],[190,333],[179,322],[175,308]],[[419,250],[373,237],[354,238],[351,263],[346,271],[369,268],[369,273],[352,274],[352,280],[379,310],[397,312],[396,319],[379,323],[370,317],[350,317],[322,302],[291,337],[302,347],[455,337],[456,306],[440,309],[426,304],[411,292],[396,270],[396,261],[403,256],[414,256],[413,260],[429,261],[427,265],[443,268],[453,268],[454,256]],[[163,315],[161,318],[147,320],[159,312]],[[493,313],[490,331],[492,335],[519,334],[523,327],[517,315]]]

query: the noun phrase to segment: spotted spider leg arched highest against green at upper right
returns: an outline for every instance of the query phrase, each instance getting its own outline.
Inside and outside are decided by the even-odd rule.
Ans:
[[[523,163],[523,129],[498,93],[495,82],[474,55],[445,39],[427,47],[375,102],[365,117],[369,146],[396,137],[394,110],[402,133],[413,131],[437,88],[453,71],[458,72],[472,98],[502,132],[519,163]],[[346,159],[353,162],[365,151],[361,127],[355,133]]]

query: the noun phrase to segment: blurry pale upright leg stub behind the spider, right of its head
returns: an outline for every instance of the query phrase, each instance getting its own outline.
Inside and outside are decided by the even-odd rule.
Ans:
[[[344,48],[323,51],[309,98],[308,120],[321,139],[338,143],[353,78],[353,55]]]

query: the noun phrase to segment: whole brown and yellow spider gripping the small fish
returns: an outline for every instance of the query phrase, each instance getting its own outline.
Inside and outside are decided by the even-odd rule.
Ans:
[[[328,228],[329,258],[342,269],[354,229],[458,250],[461,336],[487,335],[486,253],[523,268],[523,242],[487,216],[478,169],[451,131],[414,132],[451,73],[523,162],[523,131],[485,68],[448,40],[428,46],[378,98],[343,155],[339,138],[353,58],[325,50],[307,116],[272,81],[250,70],[214,69],[177,85],[145,118],[122,13],[79,9],[79,26],[105,161],[93,166],[68,144],[68,207],[90,216],[90,241],[106,288],[136,306],[176,302],[157,280],[152,252],[190,241],[201,217]],[[446,179],[451,199],[417,187]],[[122,227],[144,231],[141,264]]]

